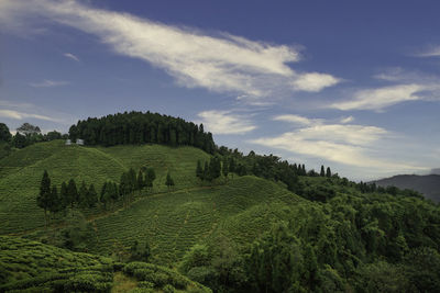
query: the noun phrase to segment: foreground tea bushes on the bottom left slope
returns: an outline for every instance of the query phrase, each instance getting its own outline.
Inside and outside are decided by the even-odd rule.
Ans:
[[[166,268],[0,236],[0,292],[210,292]],[[136,291],[138,290],[138,291]]]

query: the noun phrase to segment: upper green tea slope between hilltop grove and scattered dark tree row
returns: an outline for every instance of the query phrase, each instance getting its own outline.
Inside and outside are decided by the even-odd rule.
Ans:
[[[42,210],[36,206],[43,171],[59,184],[74,178],[94,183],[97,189],[106,180],[119,181],[123,171],[142,166],[156,171],[155,192],[166,191],[169,170],[177,188],[196,184],[197,159],[208,155],[193,147],[172,148],[161,145],[82,147],[65,146],[63,140],[40,143],[12,153],[0,160],[0,234],[18,233],[44,226]]]

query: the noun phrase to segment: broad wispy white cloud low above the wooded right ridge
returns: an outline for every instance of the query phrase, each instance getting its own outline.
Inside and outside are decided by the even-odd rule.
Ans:
[[[324,120],[295,115],[278,116],[275,120],[292,122],[294,129],[277,136],[253,139],[251,143],[346,166],[383,170],[422,169],[375,156],[375,146],[391,136],[382,127],[327,124]]]

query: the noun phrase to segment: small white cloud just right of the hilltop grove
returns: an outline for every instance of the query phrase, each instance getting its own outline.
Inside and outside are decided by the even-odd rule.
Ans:
[[[245,134],[256,128],[246,115],[231,111],[204,111],[198,114],[205,127],[213,134]]]

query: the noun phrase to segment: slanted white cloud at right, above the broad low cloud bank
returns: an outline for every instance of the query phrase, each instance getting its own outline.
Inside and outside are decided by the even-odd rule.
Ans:
[[[380,89],[360,90],[354,93],[354,99],[343,102],[336,102],[330,108],[339,110],[382,110],[384,108],[406,102],[421,100],[417,93],[428,90],[422,84],[398,84]]]

